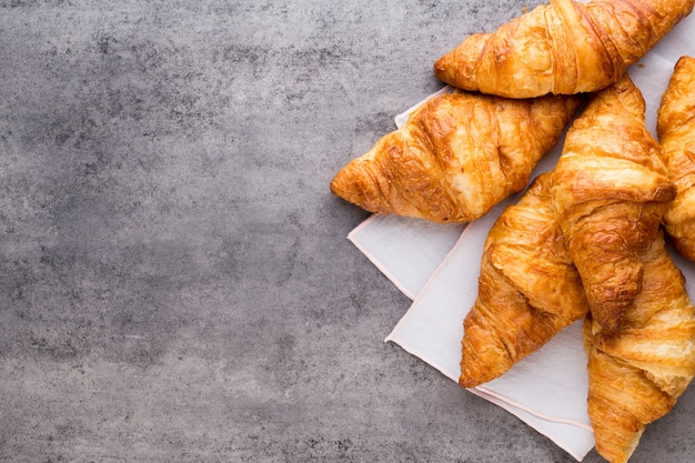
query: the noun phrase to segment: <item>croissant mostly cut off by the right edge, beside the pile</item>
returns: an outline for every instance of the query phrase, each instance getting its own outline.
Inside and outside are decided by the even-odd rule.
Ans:
[[[656,131],[676,199],[666,208],[664,225],[675,248],[695,261],[695,58],[682,57],[662,98]]]

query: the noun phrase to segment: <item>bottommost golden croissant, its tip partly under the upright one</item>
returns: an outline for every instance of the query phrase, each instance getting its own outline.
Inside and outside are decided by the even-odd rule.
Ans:
[[[644,256],[642,291],[623,326],[605,332],[587,316],[587,411],[596,451],[626,462],[645,426],[668,413],[695,375],[695,308],[663,234]]]

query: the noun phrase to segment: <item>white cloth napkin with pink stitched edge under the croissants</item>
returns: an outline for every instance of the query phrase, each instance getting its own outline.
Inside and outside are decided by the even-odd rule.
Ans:
[[[647,129],[654,135],[656,110],[673,66],[681,56],[695,56],[694,30],[695,14],[691,14],[628,70],[647,102]],[[446,91],[444,88],[437,93]],[[416,107],[399,114],[396,127]],[[542,160],[533,177],[554,167],[562,143]],[[457,381],[462,321],[477,295],[483,243],[501,211],[516,199],[505,200],[469,225],[374,214],[349,234],[349,240],[414,300],[386,342],[399,344]],[[695,295],[695,264],[675,252],[673,255],[686,276],[688,292]],[[577,322],[502,378],[469,391],[507,410],[582,461],[594,446],[586,414],[586,358]]]

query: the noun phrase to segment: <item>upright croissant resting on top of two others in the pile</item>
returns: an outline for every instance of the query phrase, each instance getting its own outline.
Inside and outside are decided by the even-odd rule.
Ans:
[[[594,319],[616,330],[642,289],[642,256],[676,189],[626,76],[596,93],[567,131],[553,202]]]

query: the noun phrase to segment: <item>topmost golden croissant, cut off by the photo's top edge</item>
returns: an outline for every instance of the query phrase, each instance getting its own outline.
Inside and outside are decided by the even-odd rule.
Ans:
[[[508,98],[601,90],[616,82],[693,9],[695,0],[550,0],[472,34],[434,73],[465,90]]]

